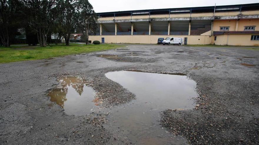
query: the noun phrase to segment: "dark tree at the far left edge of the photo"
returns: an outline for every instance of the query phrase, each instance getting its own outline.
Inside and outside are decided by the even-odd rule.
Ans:
[[[17,0],[0,0],[0,40],[9,47],[21,23],[20,3]]]

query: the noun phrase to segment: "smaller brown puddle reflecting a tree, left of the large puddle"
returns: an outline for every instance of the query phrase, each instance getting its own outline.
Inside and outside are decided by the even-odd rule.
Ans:
[[[50,101],[57,103],[67,115],[87,115],[93,112],[94,89],[80,77],[60,77],[59,85],[48,93]]]

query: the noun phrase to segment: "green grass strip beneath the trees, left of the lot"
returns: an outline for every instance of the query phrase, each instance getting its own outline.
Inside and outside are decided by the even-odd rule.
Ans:
[[[0,47],[0,63],[17,62],[24,60],[47,59],[60,57],[70,54],[80,54],[101,50],[116,49],[124,45],[116,44],[69,44],[69,46],[58,44],[52,47],[33,47],[33,46],[11,46],[10,48]],[[28,50],[26,50],[28,49]]]

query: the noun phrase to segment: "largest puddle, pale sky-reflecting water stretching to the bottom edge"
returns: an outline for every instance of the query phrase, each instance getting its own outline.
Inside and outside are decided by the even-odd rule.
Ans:
[[[133,144],[187,144],[185,138],[164,130],[159,120],[165,109],[194,108],[195,81],[183,75],[138,71],[115,71],[105,76],[136,95],[135,100],[110,111],[107,129]]]

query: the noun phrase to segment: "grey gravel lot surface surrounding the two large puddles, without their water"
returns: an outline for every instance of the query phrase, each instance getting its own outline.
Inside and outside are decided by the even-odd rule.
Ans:
[[[255,48],[128,45],[121,50],[0,64],[0,144],[137,144],[123,133],[118,135],[122,130],[105,127],[111,123],[109,110],[135,98],[104,75],[120,70],[184,73],[197,82],[199,97],[192,110],[161,112],[165,131],[183,136],[187,143],[259,144],[259,51]],[[97,57],[104,54],[118,56]],[[103,94],[104,104],[85,116],[66,115],[47,97],[58,76],[86,78]]]

